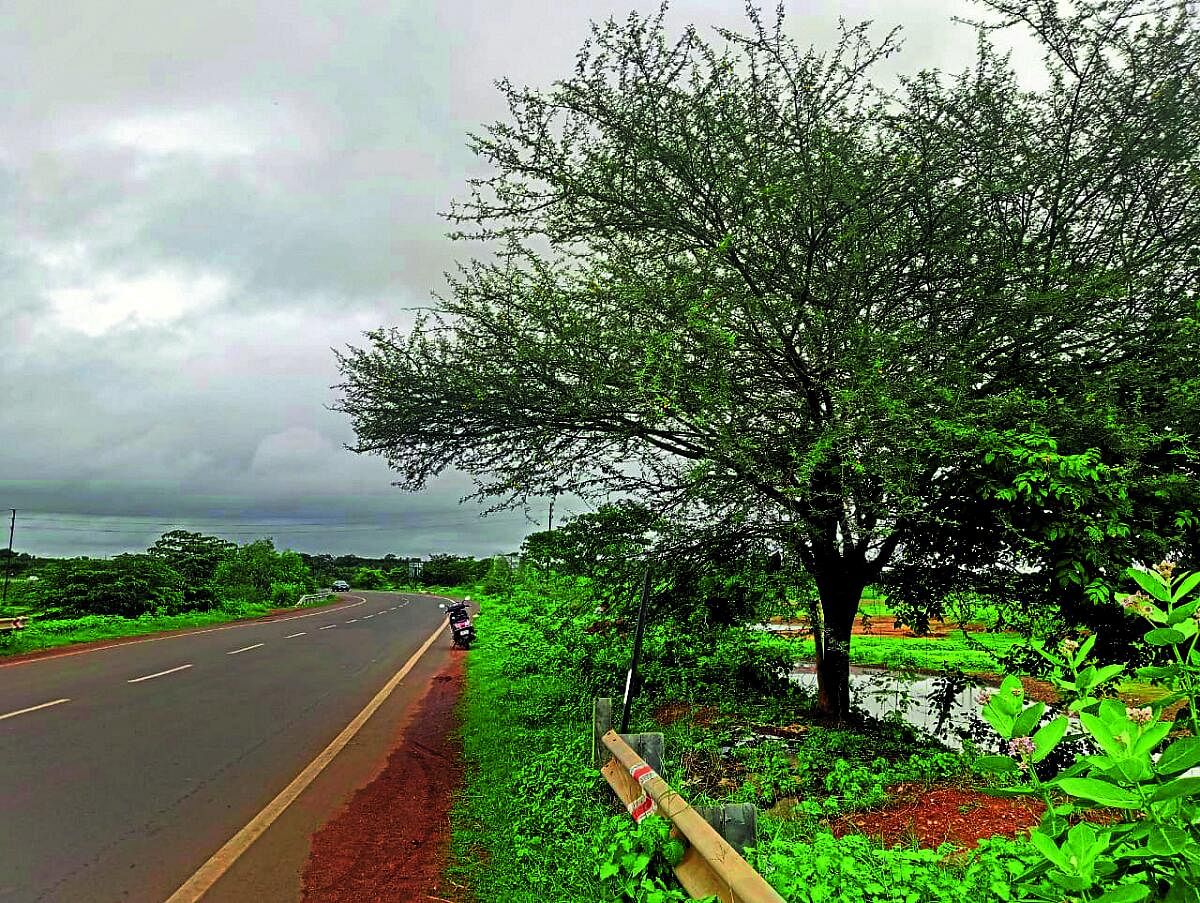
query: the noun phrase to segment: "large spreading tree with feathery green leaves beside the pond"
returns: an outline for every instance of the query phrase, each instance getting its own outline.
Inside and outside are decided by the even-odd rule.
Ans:
[[[770,542],[820,593],[848,705],[863,587],[1082,604],[1194,525],[1200,41],[1184,4],[988,0],[979,59],[884,91],[898,49],[594,28],[502,83],[485,244],[436,311],[341,357],[356,450],[497,504],[632,496]],[[1019,84],[989,28],[1042,43]],[[1040,587],[1040,590],[1038,588]],[[1049,590],[1046,587],[1050,587]],[[1085,590],[1087,592],[1085,592]]]

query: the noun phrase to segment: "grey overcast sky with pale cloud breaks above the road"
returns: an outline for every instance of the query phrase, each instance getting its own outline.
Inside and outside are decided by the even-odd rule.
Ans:
[[[636,6],[635,6],[636,4]],[[898,71],[956,70],[956,0],[790,2],[905,28]],[[331,347],[402,324],[456,258],[492,82],[571,70],[643,0],[8,0],[0,18],[0,507],[16,548],[104,555],[179,524],[305,551],[491,555],[545,510],[479,518],[343,448]],[[674,23],[737,25],[740,0]],[[562,513],[562,508],[559,509]],[[6,518],[7,520],[7,518]],[[7,526],[7,524],[5,524]],[[2,540],[0,540],[2,542]]]

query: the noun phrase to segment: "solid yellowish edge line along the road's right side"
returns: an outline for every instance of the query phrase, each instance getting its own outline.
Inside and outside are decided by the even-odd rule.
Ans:
[[[293,778],[290,784],[280,791],[278,796],[266,803],[262,812],[254,815],[241,831],[230,837],[220,850],[209,857],[208,862],[197,869],[196,874],[188,878],[178,891],[172,893],[167,898],[167,903],[196,903],[196,901],[208,893],[209,889],[221,880],[221,877],[233,867],[233,863],[238,861],[241,854],[250,849],[250,845],[283,814],[283,811],[317,779],[317,776],[325,770],[325,766],[354,738],[354,735],[362,729],[367,719],[388,700],[388,696],[396,689],[396,686],[404,680],[408,672],[421,659],[421,656],[442,635],[445,627],[444,623],[438,624],[438,628],[430,634],[430,639],[413,653],[412,658],[404,663],[404,666],[383,686],[383,689],[376,693],[374,699],[367,702],[366,707],[354,716],[354,720],[347,724],[342,729],[342,732],[334,737],[332,742],[316,759],[308,763],[305,770]]]

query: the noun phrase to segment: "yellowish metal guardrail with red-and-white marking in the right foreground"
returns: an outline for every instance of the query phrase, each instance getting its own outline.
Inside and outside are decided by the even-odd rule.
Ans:
[[[670,820],[674,833],[688,842],[688,850],[674,872],[692,899],[715,895],[721,903],[785,903],[704,815],[672,790],[622,735],[608,730],[599,740],[612,755],[600,772],[630,814],[637,821],[658,814]]]

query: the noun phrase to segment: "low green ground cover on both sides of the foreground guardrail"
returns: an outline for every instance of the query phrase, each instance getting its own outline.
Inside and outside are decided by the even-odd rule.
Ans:
[[[592,700],[619,702],[630,640],[605,626],[596,600],[586,579],[533,573],[511,594],[482,599],[451,872],[475,899],[688,899],[670,877],[662,823],[636,829],[590,761]],[[898,784],[996,784],[974,757],[898,723],[814,719],[815,700],[786,677],[797,642],[695,628],[673,620],[647,628],[631,730],[666,735],[664,777],[692,805],[763,808],[750,860],[785,898],[1015,899],[1012,875],[1037,860],[1027,841],[892,849],[834,830],[886,806]]]

